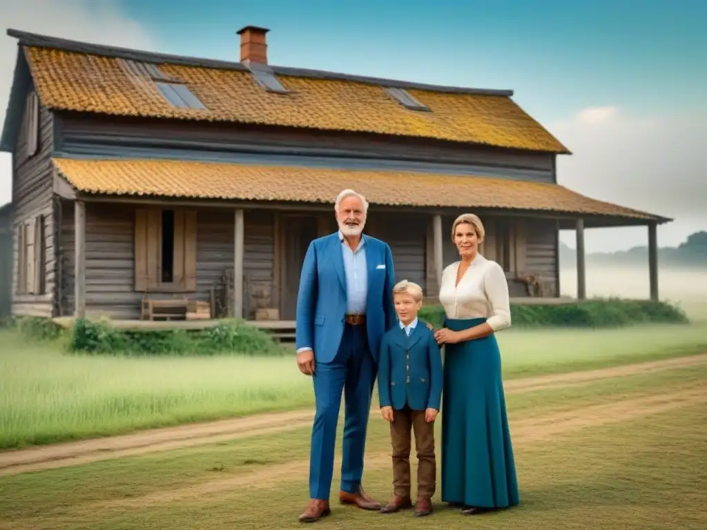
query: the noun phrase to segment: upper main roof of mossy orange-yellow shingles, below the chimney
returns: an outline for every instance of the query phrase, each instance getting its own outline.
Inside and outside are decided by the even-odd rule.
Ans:
[[[241,62],[92,45],[16,30],[8,30],[8,35],[18,39],[40,100],[52,110],[365,132],[569,153],[511,99],[511,90],[433,86],[270,65],[259,72]],[[276,88],[264,87],[259,82],[263,78]],[[194,104],[175,105],[173,98],[178,100],[179,95],[167,94],[165,90],[172,89],[160,87],[163,82],[186,88],[182,96],[195,98]]]

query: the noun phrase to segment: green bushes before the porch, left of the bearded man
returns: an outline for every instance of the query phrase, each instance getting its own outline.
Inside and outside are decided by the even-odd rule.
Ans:
[[[108,320],[77,320],[69,349],[107,355],[283,355],[284,348],[262,329],[241,320],[206,329],[117,329]]]

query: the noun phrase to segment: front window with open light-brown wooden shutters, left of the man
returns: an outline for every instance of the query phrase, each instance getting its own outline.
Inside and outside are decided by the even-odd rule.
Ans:
[[[135,290],[179,293],[197,288],[197,213],[139,208],[135,213]]]

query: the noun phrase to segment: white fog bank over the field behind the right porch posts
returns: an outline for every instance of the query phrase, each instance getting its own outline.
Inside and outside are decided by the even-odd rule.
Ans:
[[[577,295],[577,269],[561,267],[563,296]],[[597,266],[587,264],[587,296],[648,298],[648,264],[645,267]],[[677,303],[693,318],[707,319],[707,269],[667,269],[658,271],[658,295]]]

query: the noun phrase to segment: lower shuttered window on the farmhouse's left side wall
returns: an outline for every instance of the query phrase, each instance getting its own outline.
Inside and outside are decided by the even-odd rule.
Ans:
[[[17,228],[18,295],[42,295],[45,290],[44,216],[36,216]]]

